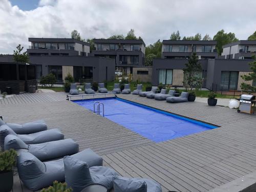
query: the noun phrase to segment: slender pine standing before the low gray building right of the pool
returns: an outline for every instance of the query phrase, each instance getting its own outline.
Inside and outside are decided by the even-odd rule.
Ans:
[[[197,53],[192,53],[185,66],[183,69],[184,84],[192,90],[193,86],[198,86],[202,82],[202,78],[197,77],[197,74],[202,71],[201,63],[198,62]]]

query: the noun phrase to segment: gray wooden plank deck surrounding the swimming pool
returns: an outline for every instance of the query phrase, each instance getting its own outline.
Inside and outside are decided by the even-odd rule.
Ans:
[[[155,143],[81,106],[64,93],[22,94],[0,100],[8,122],[45,119],[60,127],[80,150],[92,148],[104,165],[126,177],[156,180],[164,192],[208,191],[256,171],[256,118],[200,102],[166,103],[135,95],[118,95],[161,110],[221,127]],[[13,191],[22,191],[18,177]],[[23,186],[23,191],[29,191]]]

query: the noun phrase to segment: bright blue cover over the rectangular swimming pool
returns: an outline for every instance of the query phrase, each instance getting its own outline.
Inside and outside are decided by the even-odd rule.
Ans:
[[[76,100],[74,102],[93,111],[95,101],[104,103],[106,118],[155,142],[217,127],[120,98]]]

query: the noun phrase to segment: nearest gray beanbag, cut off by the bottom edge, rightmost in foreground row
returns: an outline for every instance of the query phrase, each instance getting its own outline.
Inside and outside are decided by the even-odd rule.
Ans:
[[[115,191],[122,192],[162,192],[161,185],[154,180],[144,178],[125,178],[115,176],[113,181]]]

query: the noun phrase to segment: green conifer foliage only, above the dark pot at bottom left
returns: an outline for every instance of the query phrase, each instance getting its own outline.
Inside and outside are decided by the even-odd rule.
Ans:
[[[0,173],[12,171],[16,165],[16,157],[17,153],[13,149],[0,152]]]

